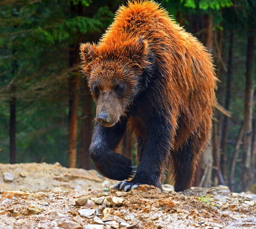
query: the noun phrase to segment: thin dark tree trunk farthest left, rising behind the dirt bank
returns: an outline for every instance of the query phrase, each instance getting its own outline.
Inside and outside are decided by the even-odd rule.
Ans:
[[[16,90],[12,87],[12,93]],[[16,97],[11,96],[10,99],[10,163],[16,163],[16,144],[15,144],[15,129],[16,129]]]

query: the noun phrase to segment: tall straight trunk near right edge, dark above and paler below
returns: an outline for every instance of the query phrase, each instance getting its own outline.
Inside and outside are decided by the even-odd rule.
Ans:
[[[253,120],[253,62],[254,62],[254,36],[255,29],[249,30],[246,59],[246,89],[244,107],[244,150],[243,150],[243,170],[241,178],[242,191],[250,189],[250,158],[252,144],[252,120]]]

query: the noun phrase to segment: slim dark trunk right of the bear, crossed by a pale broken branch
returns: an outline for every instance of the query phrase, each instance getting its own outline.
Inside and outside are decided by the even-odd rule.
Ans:
[[[230,42],[229,42],[229,57],[228,57],[228,70],[227,70],[227,80],[226,80],[226,98],[225,98],[225,109],[229,110],[230,108],[230,90],[231,90],[231,79],[232,79],[232,61],[233,61],[233,31],[230,32]],[[227,142],[227,130],[228,130],[228,121],[229,118],[224,116],[222,122],[222,138],[221,138],[221,172],[224,175],[226,174],[226,142]]]

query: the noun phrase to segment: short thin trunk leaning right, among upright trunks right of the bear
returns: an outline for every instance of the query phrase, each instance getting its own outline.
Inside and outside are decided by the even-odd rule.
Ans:
[[[231,192],[235,191],[234,172],[235,172],[235,167],[236,167],[236,159],[239,155],[239,149],[240,149],[241,140],[243,138],[243,135],[244,135],[244,123],[241,124],[241,128],[239,130],[239,134],[236,139],[235,150],[234,150],[232,159],[230,161],[230,171],[229,171],[228,183],[229,183],[229,188],[230,188]]]

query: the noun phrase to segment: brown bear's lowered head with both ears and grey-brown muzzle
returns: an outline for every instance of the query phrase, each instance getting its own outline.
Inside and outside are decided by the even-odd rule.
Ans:
[[[96,119],[111,127],[125,115],[142,87],[148,43],[142,37],[99,45],[81,44],[82,72],[96,102]]]

